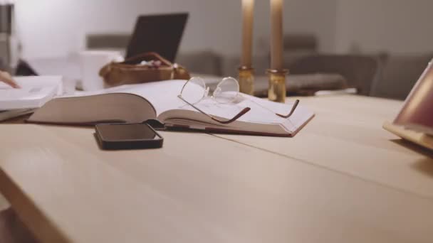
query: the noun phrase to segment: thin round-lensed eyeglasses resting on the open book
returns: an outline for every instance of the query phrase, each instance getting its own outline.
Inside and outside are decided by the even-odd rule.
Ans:
[[[241,112],[236,114],[233,118],[226,121],[217,119],[216,117],[213,117],[212,115],[203,112],[202,109],[199,109],[194,104],[197,104],[198,102],[200,102],[202,99],[205,98],[212,98],[220,104],[228,104],[231,102],[235,102],[236,99],[239,97],[239,82],[233,77],[224,77],[221,80],[221,82],[219,82],[218,85],[216,85],[214,92],[210,96],[209,96],[209,90],[210,88],[206,85],[206,83],[201,77],[192,77],[190,80],[185,82],[184,86],[182,87],[182,90],[180,91],[180,95],[177,95],[177,97],[179,97],[179,99],[182,99],[182,101],[189,104],[194,109],[197,109],[197,111],[206,115],[210,119],[217,121],[221,124],[229,124],[233,121],[236,121],[237,119],[239,119],[239,117],[242,117],[244,114],[246,114],[246,112],[249,112],[251,110],[250,107],[246,107],[242,109]],[[291,107],[291,111],[288,114],[286,115],[278,114],[278,113],[275,114],[278,117],[282,117],[282,118],[291,117],[293,112],[295,112],[296,107],[298,107],[298,104],[299,104],[299,100],[296,99],[296,101],[293,103]]]

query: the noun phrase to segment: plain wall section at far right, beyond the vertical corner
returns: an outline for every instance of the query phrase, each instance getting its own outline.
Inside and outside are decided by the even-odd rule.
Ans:
[[[336,50],[433,50],[431,0],[338,0]]]

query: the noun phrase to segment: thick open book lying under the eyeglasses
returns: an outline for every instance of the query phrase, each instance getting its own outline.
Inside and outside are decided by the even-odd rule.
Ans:
[[[100,92],[84,92],[80,96],[52,99],[38,109],[29,122],[52,124],[95,124],[100,122],[142,122],[158,119],[170,128],[199,129],[237,134],[293,136],[313,116],[299,105],[288,119],[292,103],[280,104],[250,95],[239,95],[231,104],[219,104],[214,99],[203,99],[196,106],[220,119],[231,119],[242,109],[251,110],[230,124],[221,124],[197,112],[179,95],[184,80],[122,85]]]

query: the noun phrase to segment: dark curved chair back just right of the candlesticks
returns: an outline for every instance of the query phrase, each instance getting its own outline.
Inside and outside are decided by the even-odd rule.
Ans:
[[[300,58],[289,66],[291,74],[339,74],[358,94],[369,95],[373,80],[377,78],[377,58],[360,55],[311,55]]]

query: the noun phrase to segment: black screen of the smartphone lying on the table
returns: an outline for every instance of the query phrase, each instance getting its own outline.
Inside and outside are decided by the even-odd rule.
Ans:
[[[98,132],[105,141],[160,138],[147,124],[100,124]]]

